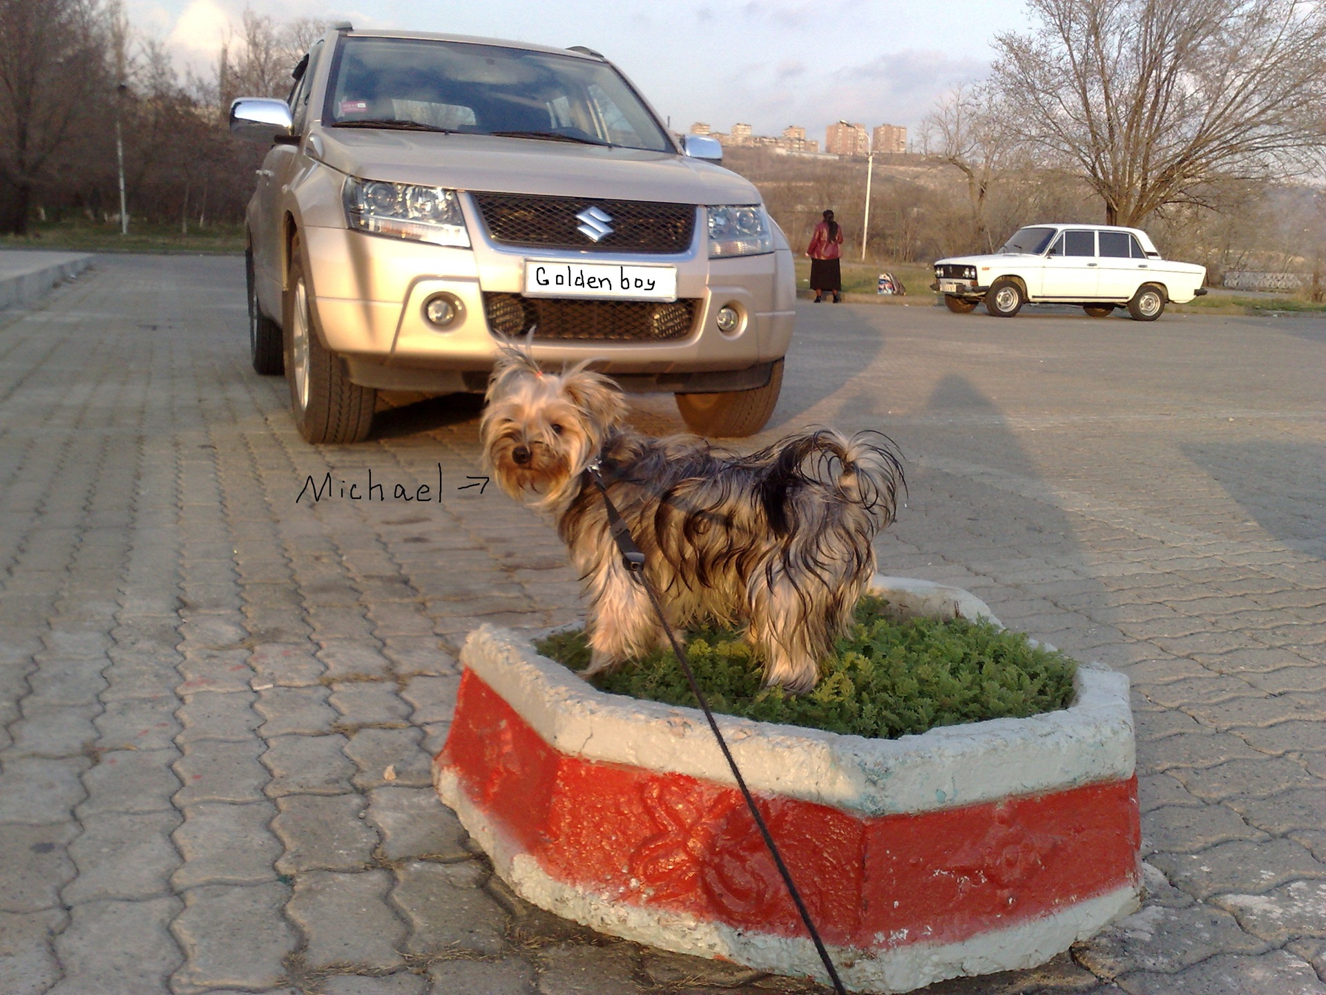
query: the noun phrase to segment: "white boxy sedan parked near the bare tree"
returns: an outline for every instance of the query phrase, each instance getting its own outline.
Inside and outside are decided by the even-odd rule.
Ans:
[[[965,314],[977,304],[1010,318],[1024,304],[1081,304],[1091,317],[1126,306],[1138,321],[1155,321],[1168,301],[1184,304],[1207,291],[1207,268],[1174,263],[1144,231],[1105,224],[1033,224],[1020,228],[994,255],[935,263],[931,289]]]

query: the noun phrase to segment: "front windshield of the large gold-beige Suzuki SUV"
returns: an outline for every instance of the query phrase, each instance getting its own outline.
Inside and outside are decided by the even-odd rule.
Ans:
[[[322,122],[676,151],[606,62],[423,38],[346,38]]]

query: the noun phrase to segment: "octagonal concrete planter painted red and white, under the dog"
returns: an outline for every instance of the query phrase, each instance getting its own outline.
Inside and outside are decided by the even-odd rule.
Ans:
[[[991,616],[956,588],[876,576],[873,589],[908,614]],[[597,691],[491,626],[461,661],[434,780],[521,897],[651,946],[823,979],[697,710]],[[1063,711],[896,740],[720,724],[854,990],[1030,967],[1138,906],[1120,674],[1079,667]]]

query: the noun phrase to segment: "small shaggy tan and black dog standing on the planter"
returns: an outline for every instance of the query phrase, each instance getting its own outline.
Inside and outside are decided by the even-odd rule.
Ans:
[[[607,377],[561,375],[504,349],[480,421],[485,463],[516,500],[550,513],[589,597],[586,674],[664,642],[648,594],[622,564],[602,494],[646,556],[644,574],[676,629],[743,624],[765,685],[804,693],[851,621],[875,569],[871,545],[894,520],[902,464],[887,436],[789,435],[749,456],[700,438],[626,427]]]

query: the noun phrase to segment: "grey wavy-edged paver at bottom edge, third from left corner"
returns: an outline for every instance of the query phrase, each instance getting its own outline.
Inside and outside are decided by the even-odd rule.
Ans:
[[[184,892],[184,911],[171,926],[186,962],[176,990],[265,990],[285,976],[285,958],[298,945],[282,909],[289,889],[206,885]]]

